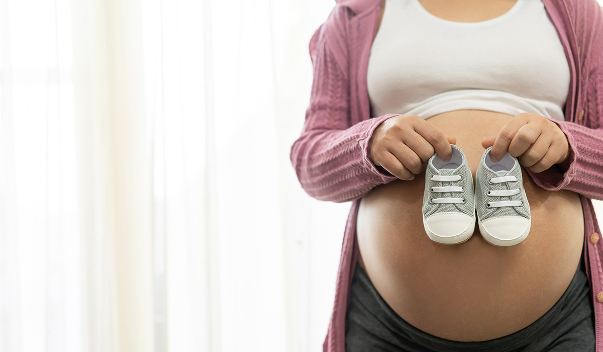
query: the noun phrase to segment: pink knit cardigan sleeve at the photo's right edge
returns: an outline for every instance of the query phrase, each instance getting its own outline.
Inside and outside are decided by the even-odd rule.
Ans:
[[[526,171],[534,179],[535,184],[545,190],[569,190],[592,199],[603,199],[603,7],[596,1],[584,2],[592,8],[582,11],[589,16],[582,25],[589,25],[590,67],[592,72],[586,93],[586,109],[588,114],[582,122],[586,126],[570,121],[553,121],[567,136],[569,143],[569,168],[564,172],[558,165],[553,165],[541,173]],[[591,27],[592,26],[592,27]],[[583,76],[584,77],[584,76]],[[588,79],[588,78],[584,78]]]

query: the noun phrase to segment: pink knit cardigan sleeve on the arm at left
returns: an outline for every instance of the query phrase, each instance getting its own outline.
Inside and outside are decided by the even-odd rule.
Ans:
[[[321,25],[310,40],[310,103],[289,156],[306,193],[340,203],[359,199],[376,185],[397,179],[368,159],[367,147],[377,126],[399,114],[369,118],[352,126],[347,60],[336,59],[333,45],[341,48],[341,40],[328,36],[325,27]]]

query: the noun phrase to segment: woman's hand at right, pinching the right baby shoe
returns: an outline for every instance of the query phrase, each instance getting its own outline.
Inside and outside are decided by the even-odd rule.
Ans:
[[[482,147],[490,146],[494,162],[509,152],[520,164],[536,173],[554,164],[566,164],[569,155],[567,137],[557,124],[527,112],[512,118],[500,129],[498,136],[482,139]],[[567,169],[567,165],[561,167]]]

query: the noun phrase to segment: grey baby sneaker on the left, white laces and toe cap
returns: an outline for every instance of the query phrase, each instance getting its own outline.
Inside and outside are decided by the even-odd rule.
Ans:
[[[423,193],[423,226],[431,240],[443,245],[463,243],[475,229],[475,193],[467,158],[459,147],[443,161],[429,158]]]

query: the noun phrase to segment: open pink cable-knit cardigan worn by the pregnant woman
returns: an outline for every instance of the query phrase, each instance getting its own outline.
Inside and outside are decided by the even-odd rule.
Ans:
[[[367,158],[367,142],[382,121],[373,117],[367,65],[381,0],[337,0],[309,44],[314,81],[301,136],[291,163],[310,196],[352,201],[343,238],[335,302],[323,350],[344,352],[350,281],[358,260],[356,214],[371,188],[397,179]],[[603,199],[603,8],[596,0],[542,0],[570,64],[566,121],[555,121],[570,146],[570,166],[528,174],[546,190],[580,195],[584,209],[584,258],[596,317],[596,351],[603,352],[603,242],[590,199]],[[551,120],[554,121],[554,120]]]

